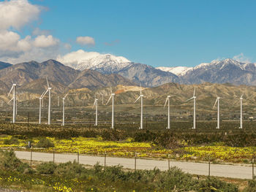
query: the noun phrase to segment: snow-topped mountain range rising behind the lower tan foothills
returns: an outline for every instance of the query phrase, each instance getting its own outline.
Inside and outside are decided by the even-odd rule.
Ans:
[[[93,54],[79,62],[48,60],[42,63],[30,61],[21,64],[0,62],[0,91],[6,92],[12,82],[20,90],[24,86],[38,92],[46,86],[45,78],[56,85],[57,92],[67,89],[97,89],[116,85],[142,85],[157,87],[167,82],[179,84],[232,83],[256,85],[256,64],[242,63],[227,58],[195,67],[157,67],[133,63],[124,57],[110,54]],[[75,69],[74,69],[75,68]]]

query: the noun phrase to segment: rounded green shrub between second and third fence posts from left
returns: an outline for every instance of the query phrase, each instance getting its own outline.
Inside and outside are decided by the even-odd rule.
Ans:
[[[69,161],[56,166],[54,174],[58,175],[59,177],[86,177],[86,168],[84,168],[81,164],[78,164],[76,161]]]

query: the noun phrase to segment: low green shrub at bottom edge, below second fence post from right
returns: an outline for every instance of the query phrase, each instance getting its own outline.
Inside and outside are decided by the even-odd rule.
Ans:
[[[197,185],[197,190],[201,192],[238,192],[238,187],[231,183],[226,183],[222,180],[219,180],[215,177],[207,177],[206,180],[200,181],[200,183]]]

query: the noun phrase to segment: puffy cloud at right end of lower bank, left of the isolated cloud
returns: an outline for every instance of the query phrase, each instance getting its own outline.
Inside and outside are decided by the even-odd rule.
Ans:
[[[52,35],[40,35],[34,39],[35,47],[52,47],[59,43],[59,39],[54,38]]]

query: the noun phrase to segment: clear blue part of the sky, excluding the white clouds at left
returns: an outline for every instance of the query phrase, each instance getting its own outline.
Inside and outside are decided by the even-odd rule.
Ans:
[[[241,53],[256,62],[256,1],[29,2],[45,8],[20,36],[38,27],[72,45],[70,51],[112,53],[152,66],[195,66]],[[95,45],[78,45],[79,36],[94,38]]]

